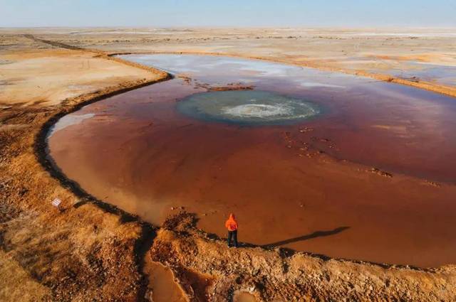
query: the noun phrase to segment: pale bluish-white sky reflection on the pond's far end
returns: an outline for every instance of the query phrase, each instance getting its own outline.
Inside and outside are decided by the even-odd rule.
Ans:
[[[176,75],[186,75],[193,80],[210,85],[243,83],[261,85],[268,80],[284,81],[291,85],[319,88],[344,88],[348,85],[371,82],[371,79],[351,75],[323,72],[293,65],[282,65],[263,60],[224,58],[212,55],[123,55],[148,66],[156,66]]]

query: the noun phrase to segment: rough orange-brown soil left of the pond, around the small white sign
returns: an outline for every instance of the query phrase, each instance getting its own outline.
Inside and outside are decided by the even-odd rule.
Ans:
[[[46,171],[43,129],[84,103],[167,79],[158,71],[147,76],[152,80],[113,86],[108,80],[61,104],[6,103],[1,109],[0,301],[136,301],[143,295],[138,267],[152,227]],[[57,197],[61,211],[51,205]]]

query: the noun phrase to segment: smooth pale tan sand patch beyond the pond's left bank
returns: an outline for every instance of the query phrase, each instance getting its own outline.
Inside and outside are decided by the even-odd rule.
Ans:
[[[0,104],[59,104],[64,99],[159,75],[124,65],[95,53],[35,50],[1,55]]]

